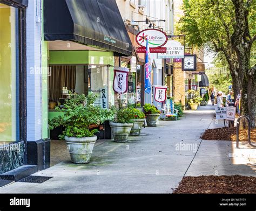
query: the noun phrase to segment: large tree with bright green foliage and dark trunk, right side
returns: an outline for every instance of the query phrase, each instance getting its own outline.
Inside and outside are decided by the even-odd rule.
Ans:
[[[252,0],[184,0],[185,15],[178,25],[190,45],[207,46],[226,60],[235,96],[244,89],[242,114],[250,117],[253,126],[255,71],[250,68],[250,52],[255,37],[250,32],[255,34],[255,4]]]

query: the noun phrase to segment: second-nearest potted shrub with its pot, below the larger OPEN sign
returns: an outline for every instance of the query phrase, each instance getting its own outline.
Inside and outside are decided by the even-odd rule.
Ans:
[[[131,132],[134,116],[131,108],[121,108],[116,111],[116,116],[110,122],[112,134],[115,142],[127,142]]]

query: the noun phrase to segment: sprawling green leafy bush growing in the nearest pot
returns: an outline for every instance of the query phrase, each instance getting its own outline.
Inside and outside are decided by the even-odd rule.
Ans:
[[[57,111],[64,111],[64,115],[52,118],[49,121],[49,129],[64,126],[65,129],[59,136],[61,139],[64,139],[65,136],[76,138],[94,136],[98,130],[91,130],[91,125],[102,124],[108,118],[114,117],[114,112],[111,109],[93,106],[96,99],[97,95],[85,96],[82,94],[66,100],[62,110],[56,108]]]

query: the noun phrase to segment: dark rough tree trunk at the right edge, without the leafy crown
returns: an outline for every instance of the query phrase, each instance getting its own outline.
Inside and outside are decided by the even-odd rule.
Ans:
[[[248,15],[251,8],[254,9],[253,12],[255,14],[255,1],[232,0],[232,2],[235,11],[234,32],[231,36],[232,46],[238,57],[239,71],[244,73],[241,112],[248,116],[251,119],[252,126],[255,126],[256,66],[251,67],[250,58],[251,48],[256,36],[251,37],[248,22]]]

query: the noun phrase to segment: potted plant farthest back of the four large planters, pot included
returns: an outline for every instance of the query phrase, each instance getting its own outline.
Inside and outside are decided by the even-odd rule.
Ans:
[[[144,106],[144,112],[146,115],[147,126],[157,126],[157,121],[161,114],[157,107],[146,103]]]

